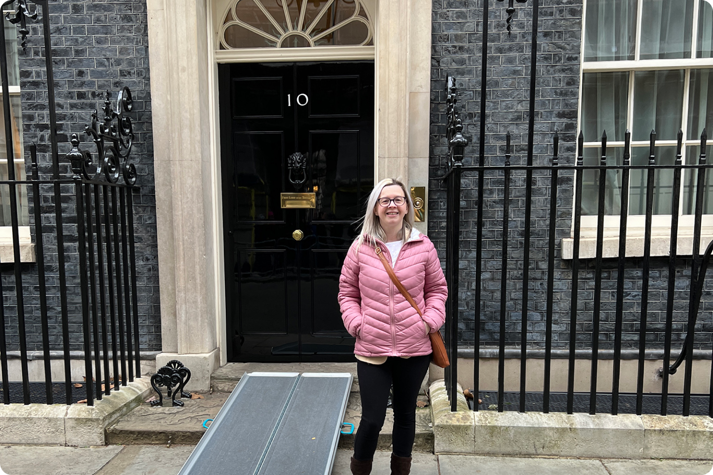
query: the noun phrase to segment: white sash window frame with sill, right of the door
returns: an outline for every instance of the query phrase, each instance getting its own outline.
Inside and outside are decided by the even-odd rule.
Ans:
[[[692,25],[692,41],[691,41],[691,58],[687,59],[647,59],[640,60],[640,45],[641,45],[641,22],[642,22],[642,6],[643,0],[637,0],[637,20],[636,20],[636,39],[635,39],[635,56],[631,61],[584,61],[585,51],[585,28],[586,28],[586,12],[588,0],[583,2],[582,12],[582,41],[580,57],[582,63],[580,67],[580,89],[579,89],[579,110],[577,133],[579,134],[582,127],[582,92],[583,92],[583,77],[585,73],[602,73],[627,71],[629,72],[629,95],[627,104],[627,129],[633,130],[633,107],[634,107],[634,75],[636,71],[657,71],[676,69],[685,71],[684,75],[684,98],[683,98],[683,116],[682,130],[684,132],[683,147],[700,145],[700,139],[688,140],[688,105],[689,105],[689,85],[690,76],[693,69],[713,69],[713,58],[696,58],[698,48],[698,22],[700,0],[694,0],[693,4],[693,25]],[[707,145],[713,145],[713,131],[709,132],[709,140]],[[657,140],[658,146],[675,146],[676,140]],[[623,141],[607,141],[607,150],[610,147],[623,147]],[[585,148],[598,148],[600,142],[585,142]],[[633,141],[631,147],[648,147],[649,141]],[[684,148],[685,150],[685,148]],[[708,162],[711,162],[713,157],[708,157]],[[684,170],[684,174],[687,170]],[[684,179],[682,177],[682,184]],[[683,203],[684,187],[680,189],[681,203]],[[574,204],[573,204],[574,216]],[[679,232],[677,249],[679,255],[692,254],[692,236],[694,226],[694,216],[683,214],[683,205],[679,207]],[[604,256],[615,257],[619,249],[619,226],[620,216],[607,215],[604,219]],[[574,236],[574,220],[572,223],[572,234]],[[630,214],[627,218],[627,256],[642,256],[643,255],[643,236],[645,234],[645,216]],[[670,251],[670,234],[671,234],[671,216],[670,215],[654,215],[652,217],[652,256],[667,256]],[[580,224],[580,257],[591,258],[595,257],[595,244],[597,236],[597,216],[582,216]],[[701,252],[704,251],[709,241],[713,239],[713,214],[704,215],[702,218],[702,239]],[[563,240],[563,259],[572,259],[573,239]]]

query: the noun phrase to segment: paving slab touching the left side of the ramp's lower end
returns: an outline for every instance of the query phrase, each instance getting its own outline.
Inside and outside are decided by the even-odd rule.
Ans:
[[[176,475],[191,452],[193,445],[123,447],[96,475]]]

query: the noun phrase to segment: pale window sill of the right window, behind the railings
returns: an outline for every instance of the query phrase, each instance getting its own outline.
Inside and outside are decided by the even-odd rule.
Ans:
[[[699,252],[703,254],[708,247],[713,235],[701,236]],[[562,259],[573,259],[574,239],[565,238],[562,240]],[[652,236],[651,256],[668,256],[670,251],[670,236]],[[611,259],[619,256],[619,236],[605,237],[602,241],[602,257]],[[693,247],[693,236],[678,236],[676,254],[678,256],[690,256]],[[630,236],[626,240],[626,256],[644,256],[644,236]],[[580,238],[580,259],[595,259],[597,257],[597,239],[595,237]]]

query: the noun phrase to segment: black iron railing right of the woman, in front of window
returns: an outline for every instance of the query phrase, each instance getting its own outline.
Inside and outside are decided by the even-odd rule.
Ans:
[[[504,0],[499,0],[504,1]],[[517,0],[518,3],[530,3],[527,0]],[[448,160],[443,170],[443,184],[446,188],[446,280],[448,281],[449,298],[446,304],[446,345],[449,357],[453,364],[446,368],[446,388],[451,398],[451,410],[456,410],[456,388],[458,381],[457,355],[472,352],[473,362],[473,393],[476,400],[473,409],[478,410],[478,393],[483,397],[492,397],[496,403],[486,404],[491,409],[503,411],[506,409],[525,410],[563,410],[573,412],[642,412],[660,414],[670,413],[673,407],[680,413],[689,415],[692,412],[692,398],[696,409],[694,412],[702,413],[702,401],[705,401],[706,413],[713,417],[713,370],[711,375],[695,375],[699,378],[710,378],[710,390],[706,394],[692,395],[692,378],[694,377],[693,356],[712,357],[709,350],[694,350],[696,343],[697,318],[700,302],[703,296],[704,278],[713,252],[713,243],[708,246],[705,253],[701,253],[702,219],[704,196],[707,194],[706,177],[711,165],[706,161],[707,131],[703,130],[700,143],[700,154],[697,163],[684,164],[682,162],[682,133],[679,132],[677,141],[677,157],[674,163],[662,165],[662,160],[657,160],[656,133],[650,137],[650,157],[645,165],[632,165],[630,160],[630,134],[626,133],[623,162],[613,164],[614,160],[607,161],[606,132],[601,138],[600,161],[596,165],[584,165],[583,137],[578,137],[577,156],[574,164],[560,162],[559,142],[560,137],[555,132],[552,137],[551,161],[547,165],[533,165],[534,131],[535,131],[535,74],[537,71],[537,41],[538,41],[538,7],[539,1],[531,2],[532,31],[530,48],[530,84],[529,84],[529,116],[527,135],[527,155],[515,164],[511,162],[511,135],[507,132],[505,137],[496,140],[506,142],[504,150],[505,161],[503,165],[486,166],[486,98],[488,97],[488,9],[490,2],[483,1],[483,21],[481,35],[481,83],[480,116],[479,116],[479,148],[477,166],[463,166],[463,146],[467,140],[461,136],[461,119],[457,110],[456,80],[448,77],[446,80],[446,106],[448,110],[448,123],[446,125],[446,139],[448,142]],[[508,20],[506,22],[508,34],[512,31],[512,18],[515,12],[513,0],[509,1]],[[457,140],[456,140],[456,137]],[[621,149],[620,149],[621,150]],[[661,150],[661,149],[659,149]],[[502,155],[501,155],[502,157]],[[541,158],[541,157],[540,157]],[[569,157],[571,158],[571,157]],[[496,162],[497,160],[489,160]],[[570,162],[570,160],[565,160]],[[643,223],[642,251],[636,256],[627,256],[627,232],[630,231],[629,207],[630,178],[632,171],[640,175],[640,190],[645,190],[645,197],[640,197],[640,202],[645,205]],[[597,209],[595,251],[592,256],[581,256],[580,248],[583,243],[581,235],[583,216],[583,179],[585,174],[594,177],[590,189],[596,193]],[[620,177],[619,211],[607,212],[607,177],[617,174]],[[689,179],[689,209],[683,210],[681,203],[682,176]],[[657,178],[656,178],[657,177]],[[691,179],[689,177],[694,177]],[[477,179],[476,179],[477,178]],[[668,182],[666,182],[668,180]],[[486,187],[486,182],[493,182]],[[533,182],[537,182],[535,187]],[[662,183],[666,182],[666,183]],[[463,199],[461,189],[463,183],[467,187],[476,188],[468,190],[469,197],[476,199],[466,201]],[[494,184],[494,186],[493,186]],[[612,183],[610,183],[612,184]],[[657,310],[665,315],[663,328],[654,327],[650,322],[649,293],[652,277],[652,222],[654,219],[654,204],[662,202],[663,195],[655,197],[654,189],[670,189],[670,234],[669,253],[663,258],[667,260],[664,266],[662,258],[656,259],[659,268],[664,267],[667,273],[657,269],[657,284],[665,281],[665,292],[659,285],[657,291],[665,295],[665,311]],[[496,189],[493,192],[493,189]],[[533,202],[533,190],[537,190],[537,202]],[[543,197],[543,189],[546,190]],[[488,197],[486,197],[488,192]],[[498,196],[494,202],[493,197]],[[566,204],[573,199],[573,204]],[[546,201],[547,204],[543,205]],[[461,209],[461,202],[472,203],[473,208]],[[565,202],[565,204],[561,204]],[[514,205],[513,205],[514,203]],[[512,207],[512,209],[511,209]],[[494,212],[493,208],[497,208]],[[462,212],[471,212],[474,221],[472,230],[461,229]],[[472,216],[472,212],[475,216]],[[537,213],[538,224],[533,223],[533,212]],[[486,219],[487,214],[487,219]],[[493,219],[493,214],[499,217]],[[618,219],[618,233],[605,232],[605,214]],[[659,214],[659,213],[657,213]],[[669,213],[666,213],[669,214]],[[692,243],[687,250],[679,253],[679,216],[689,214],[692,216]],[[594,216],[593,216],[594,217]],[[558,224],[558,219],[567,221],[566,229]],[[546,224],[543,222],[546,221]],[[511,223],[516,223],[518,229],[511,229]],[[536,239],[533,231],[537,232]],[[473,236],[474,235],[474,236]],[[614,258],[605,256],[605,239],[618,239],[618,251]],[[563,258],[565,238],[570,239],[571,256]],[[589,238],[588,240],[590,240]],[[473,242],[474,241],[474,242]],[[704,245],[704,244],[703,244]],[[465,248],[463,247],[465,246]],[[468,267],[468,272],[461,272],[461,255],[463,251],[475,249],[474,267]],[[535,251],[536,258],[531,254]],[[660,256],[660,253],[657,254]],[[468,259],[473,256],[469,255]],[[499,257],[499,259],[498,259]],[[546,262],[546,265],[545,265]],[[615,262],[615,264],[614,264]],[[613,325],[608,315],[602,316],[602,291],[605,285],[607,292],[611,292],[612,278],[604,278],[604,269],[616,274],[615,277],[615,309],[613,311]],[[629,271],[634,273],[627,273]],[[689,272],[689,276],[686,273]],[[483,276],[488,274],[489,277]],[[468,278],[463,278],[467,275]],[[536,276],[536,278],[533,278]],[[682,281],[686,285],[682,286]],[[636,282],[633,282],[636,281]],[[632,302],[632,296],[627,289],[640,283],[640,298]],[[487,284],[487,285],[486,285]],[[537,290],[535,290],[535,286]],[[565,292],[560,292],[565,288]],[[591,288],[591,291],[590,291]],[[513,289],[515,292],[513,292]],[[582,292],[590,292],[588,306],[584,304]],[[516,301],[511,297],[517,294]],[[560,293],[558,296],[557,293]],[[569,294],[568,302],[563,302],[562,293]],[[682,301],[684,294],[684,301]],[[463,297],[463,296],[466,297]],[[664,297],[662,297],[664,298]],[[535,301],[536,299],[536,301]],[[566,306],[566,310],[563,307]],[[684,325],[685,338],[682,344],[674,340],[674,323],[683,326],[680,319],[674,318],[682,306],[685,306],[687,319]],[[544,342],[528,337],[528,314],[534,306],[538,306],[538,313],[544,314]],[[544,311],[540,311],[543,308]],[[590,306],[590,307],[589,307]],[[465,309],[471,309],[465,310]],[[610,310],[606,310],[609,312]],[[519,316],[519,322],[518,316]],[[568,314],[566,318],[563,315]],[[465,320],[459,321],[465,315]],[[471,317],[472,315],[472,317]],[[625,332],[623,325],[631,325],[636,321],[636,335],[631,330]],[[472,328],[470,326],[473,322]],[[602,330],[602,322],[607,325],[607,330]],[[567,328],[568,341],[553,341],[553,324],[563,325]],[[513,325],[514,324],[514,325]],[[519,324],[519,332],[517,331]],[[487,326],[489,325],[489,327]],[[632,325],[634,326],[634,325]],[[462,341],[465,329],[473,330],[473,346],[458,349],[458,342]],[[482,331],[487,328],[491,335],[497,335],[497,342],[488,338],[483,341]],[[513,328],[515,330],[513,331]],[[508,331],[518,334],[515,340],[508,337]],[[701,330],[701,333],[704,333]],[[707,331],[709,333],[709,331]],[[647,337],[663,334],[663,344],[657,343],[654,347]],[[558,335],[562,335],[561,330]],[[600,337],[613,335],[613,342],[607,341],[606,348],[600,348]],[[623,340],[627,336],[627,341]],[[590,343],[581,343],[579,337]],[[704,336],[706,336],[704,334]],[[634,337],[634,338],[632,338]],[[470,340],[470,338],[468,338]],[[493,343],[497,343],[493,348]],[[544,343],[544,344],[543,344]],[[589,346],[587,346],[589,345]],[[625,393],[620,390],[622,380],[622,360],[632,357],[637,360],[636,390]],[[654,358],[652,354],[656,353]],[[659,355],[660,353],[660,355]],[[703,354],[704,353],[704,354]],[[497,390],[488,392],[481,390],[481,371],[483,361],[481,356],[488,359],[497,357]],[[542,391],[528,391],[528,357],[543,358]],[[553,360],[567,360],[566,390],[550,390],[553,387]],[[662,367],[657,372],[661,379],[659,394],[652,395],[645,392],[645,360],[661,359]],[[672,360],[675,361],[672,363]],[[506,380],[506,360],[518,360],[519,363],[519,390],[506,391],[506,383],[511,385],[512,380]],[[607,365],[612,365],[611,392],[597,391],[597,382],[600,379],[602,360]],[[670,392],[670,375],[674,375],[682,363],[684,365],[683,389],[680,394]],[[589,391],[575,392],[575,380],[582,374],[582,365],[588,365],[586,370],[589,376]],[[704,367],[701,365],[699,367]],[[560,367],[560,371],[561,371]],[[698,370],[701,371],[701,370]],[[707,372],[707,370],[705,371]],[[530,380],[532,374],[530,372]],[[555,375],[558,376],[558,375]],[[469,380],[469,378],[463,378]],[[652,399],[653,398],[653,399]],[[653,401],[653,402],[652,402]],[[492,402],[492,400],[491,400]]]

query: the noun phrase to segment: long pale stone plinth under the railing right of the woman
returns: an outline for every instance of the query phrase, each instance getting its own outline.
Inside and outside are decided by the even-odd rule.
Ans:
[[[473,412],[460,386],[451,412],[443,380],[430,395],[435,454],[713,459],[709,417]]]

